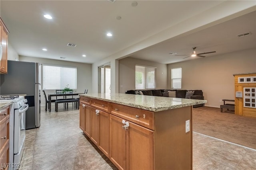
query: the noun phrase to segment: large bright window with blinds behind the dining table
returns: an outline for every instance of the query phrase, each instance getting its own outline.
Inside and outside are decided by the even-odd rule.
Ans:
[[[43,65],[43,89],[76,89],[76,67]]]

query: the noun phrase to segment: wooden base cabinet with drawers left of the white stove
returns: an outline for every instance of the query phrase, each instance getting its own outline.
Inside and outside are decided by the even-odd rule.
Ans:
[[[10,127],[10,106],[0,111],[0,165],[1,168],[9,163],[9,127]]]

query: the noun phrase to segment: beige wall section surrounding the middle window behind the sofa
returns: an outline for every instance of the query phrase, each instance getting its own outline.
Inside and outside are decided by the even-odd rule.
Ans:
[[[119,93],[135,89],[135,64],[156,67],[156,89],[167,88],[167,64],[126,57],[119,60]]]

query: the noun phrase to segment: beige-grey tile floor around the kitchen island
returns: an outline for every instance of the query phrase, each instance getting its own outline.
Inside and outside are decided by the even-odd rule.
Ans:
[[[54,108],[54,107],[52,107]],[[45,112],[26,130],[20,170],[116,170],[79,128],[79,110]],[[193,170],[256,170],[256,150],[193,133]]]

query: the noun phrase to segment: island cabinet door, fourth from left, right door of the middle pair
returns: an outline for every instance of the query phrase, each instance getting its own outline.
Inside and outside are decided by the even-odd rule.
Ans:
[[[109,113],[100,111],[98,148],[109,157]]]

